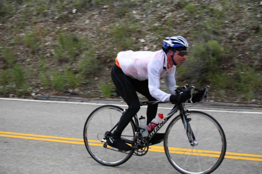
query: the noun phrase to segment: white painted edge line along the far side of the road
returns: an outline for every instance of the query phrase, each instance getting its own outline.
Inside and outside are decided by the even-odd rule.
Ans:
[[[61,102],[61,101],[48,101],[48,100],[27,100],[18,98],[0,98],[0,100],[15,100],[15,101],[26,101],[26,102],[47,102],[47,103],[72,103],[72,104],[90,104],[90,105],[107,105],[102,103],[85,103],[85,102]],[[128,106],[124,104],[112,104],[115,106]],[[147,106],[140,106],[141,108],[147,108]],[[160,109],[172,109],[165,107],[158,107]],[[210,112],[228,112],[228,113],[248,113],[248,114],[262,114],[262,112],[246,112],[246,111],[220,111],[220,110],[208,110],[208,109],[192,109],[192,111],[210,111]]]

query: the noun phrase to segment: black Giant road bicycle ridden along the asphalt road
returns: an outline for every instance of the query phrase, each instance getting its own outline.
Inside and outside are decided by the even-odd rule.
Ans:
[[[193,86],[178,87],[177,90],[191,93],[202,91],[207,95],[209,86],[197,89]],[[198,102],[199,102],[198,101]],[[140,102],[140,105],[162,103],[161,101]],[[164,147],[148,143],[155,133],[173,116],[164,136]],[[122,132],[121,139],[131,145],[132,150],[120,151],[107,145],[112,132],[125,110],[115,105],[104,105],[96,108],[87,118],[84,127],[84,142],[87,151],[94,160],[105,166],[123,164],[132,155],[145,155],[149,149],[164,151],[170,164],[180,173],[211,173],[223,161],[226,153],[226,136],[219,123],[210,115],[200,111],[188,111],[184,103],[176,103],[149,136],[142,137],[138,116],[135,115]],[[157,150],[154,150],[157,149]]]

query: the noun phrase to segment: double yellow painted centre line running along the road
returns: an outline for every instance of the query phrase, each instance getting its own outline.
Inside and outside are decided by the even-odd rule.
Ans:
[[[3,132],[3,131],[0,131],[0,136],[84,145],[83,139],[67,138],[67,137],[59,137],[59,136],[23,134],[23,133]],[[103,145],[100,141],[96,141],[96,140],[89,140],[89,142],[91,142],[89,143],[89,145],[94,145],[94,146]],[[193,155],[210,156],[210,157],[219,157],[219,154],[220,154],[219,151],[209,151],[209,150],[191,151],[191,149],[179,149],[176,147],[169,147],[169,150],[170,150],[170,153],[174,153],[174,154],[193,154]],[[164,147],[162,146],[149,146],[149,151],[165,152]],[[233,152],[226,152],[225,158],[238,159],[238,160],[262,161],[262,155],[242,154],[242,153],[233,153]]]

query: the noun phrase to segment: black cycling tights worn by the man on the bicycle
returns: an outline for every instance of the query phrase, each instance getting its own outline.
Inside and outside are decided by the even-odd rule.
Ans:
[[[140,109],[140,102],[137,96],[137,92],[141,93],[145,96],[149,101],[155,101],[156,99],[151,96],[148,89],[148,80],[139,81],[137,79],[133,79],[130,76],[124,74],[121,68],[113,66],[111,70],[111,78],[118,90],[120,96],[124,99],[124,101],[128,105],[128,109],[120,118],[119,124],[116,128],[116,132],[122,133],[124,128],[129,124],[130,120],[135,116],[135,114]],[[155,118],[157,113],[157,104],[149,105],[147,107],[146,116],[147,116],[147,124]]]

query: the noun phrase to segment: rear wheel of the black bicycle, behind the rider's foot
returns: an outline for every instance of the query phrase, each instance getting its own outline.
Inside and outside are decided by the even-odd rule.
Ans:
[[[87,118],[84,126],[84,142],[85,147],[90,156],[105,166],[118,166],[123,164],[133,155],[134,150],[122,153],[113,147],[103,147],[104,143],[101,139],[105,136],[105,132],[110,131],[115,126],[123,109],[114,105],[104,105],[96,108]],[[108,117],[110,120],[108,120]],[[129,125],[124,129],[122,135],[128,135],[132,140],[135,135],[135,123],[130,121]],[[112,131],[113,132],[113,131]],[[127,138],[127,136],[124,136]]]

